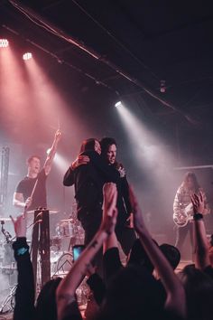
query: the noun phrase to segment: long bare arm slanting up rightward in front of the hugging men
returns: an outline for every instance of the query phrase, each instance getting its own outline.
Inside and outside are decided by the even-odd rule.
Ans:
[[[97,234],[84,249],[79,259],[74,263],[70,269],[69,274],[60,282],[57,288],[57,306],[58,319],[62,320],[67,316],[67,308],[75,301],[75,292],[83,277],[85,277],[88,267],[92,259],[95,257],[97,251],[101,248],[104,240],[115,230],[116,226],[116,210],[115,210],[116,186],[114,186],[114,193],[110,193],[109,202],[107,206],[107,215],[101,223]]]

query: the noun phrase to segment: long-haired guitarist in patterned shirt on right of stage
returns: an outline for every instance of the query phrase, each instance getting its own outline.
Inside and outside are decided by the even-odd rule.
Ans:
[[[192,225],[190,217],[193,216],[193,207],[190,196],[193,193],[199,194],[199,192],[202,192],[205,202],[204,212],[200,213],[207,214],[209,212],[209,207],[206,194],[203,192],[202,188],[200,188],[196,175],[192,172],[188,172],[185,174],[173,202],[173,220],[177,225],[175,247],[180,251],[188,231],[190,231],[190,242],[192,244]]]

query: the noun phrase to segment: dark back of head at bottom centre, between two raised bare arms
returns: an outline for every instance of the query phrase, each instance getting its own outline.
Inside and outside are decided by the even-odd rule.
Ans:
[[[120,269],[108,283],[97,319],[165,319],[164,304],[162,287],[150,271],[129,265]]]

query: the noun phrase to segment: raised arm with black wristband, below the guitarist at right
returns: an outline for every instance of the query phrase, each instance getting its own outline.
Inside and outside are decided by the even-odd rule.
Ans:
[[[193,236],[195,248],[195,264],[196,267],[203,270],[210,266],[210,259],[208,255],[208,240],[206,228],[203,221],[202,212],[205,210],[205,197],[203,193],[193,194],[191,196],[193,204],[194,219],[193,219]]]

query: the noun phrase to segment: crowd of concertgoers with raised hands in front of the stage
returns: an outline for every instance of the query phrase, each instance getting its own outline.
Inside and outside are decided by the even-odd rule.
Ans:
[[[91,269],[98,250],[103,247],[104,276],[89,273],[88,286],[97,302],[98,320],[116,319],[189,319],[213,318],[212,255],[202,217],[202,193],[191,196],[193,204],[193,235],[195,264],[175,273],[180,252],[169,244],[158,246],[147,230],[143,213],[130,189],[134,231],[137,239],[125,266],[121,263],[116,239],[117,190],[116,184],[103,188],[103,218],[94,238],[66,278],[53,279],[42,287],[34,301],[32,262],[26,242],[26,217],[14,221],[16,241],[14,257],[18,269],[15,293],[14,320],[71,320],[82,319],[76,291]]]

